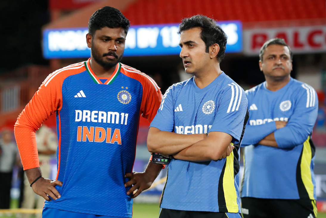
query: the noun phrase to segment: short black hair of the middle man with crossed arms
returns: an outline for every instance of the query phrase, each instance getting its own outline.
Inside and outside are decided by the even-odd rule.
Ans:
[[[216,56],[220,63],[224,58],[228,36],[225,34],[223,29],[216,24],[214,19],[200,14],[183,19],[179,25],[178,33],[181,34],[181,32],[195,27],[201,28],[200,38],[206,45],[205,52],[208,53],[209,46],[214,45],[215,43],[220,46],[220,51]]]

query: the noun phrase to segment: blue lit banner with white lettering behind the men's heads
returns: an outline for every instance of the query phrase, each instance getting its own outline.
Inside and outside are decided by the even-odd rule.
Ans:
[[[242,52],[242,24],[240,21],[218,23],[228,35],[226,52]],[[179,55],[179,24],[131,26],[126,37],[124,56]],[[89,58],[86,44],[87,28],[45,29],[43,31],[44,58]]]

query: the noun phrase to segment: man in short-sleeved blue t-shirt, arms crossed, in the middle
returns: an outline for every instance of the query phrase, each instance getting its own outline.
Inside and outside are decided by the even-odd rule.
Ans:
[[[247,99],[220,69],[227,36],[202,15],[183,19],[179,34],[185,72],[194,76],[165,92],[147,138],[149,151],[174,157],[159,217],[241,217],[238,152]]]

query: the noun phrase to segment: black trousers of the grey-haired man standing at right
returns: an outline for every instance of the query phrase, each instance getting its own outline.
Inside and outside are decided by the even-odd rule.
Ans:
[[[316,201],[310,199],[242,198],[244,218],[316,218]]]

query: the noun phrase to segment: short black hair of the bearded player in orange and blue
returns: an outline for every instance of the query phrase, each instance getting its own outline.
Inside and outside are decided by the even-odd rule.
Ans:
[[[125,33],[129,30],[129,20],[116,8],[105,6],[94,12],[88,21],[88,33],[94,35],[96,30],[103,27],[119,28],[122,27]]]

